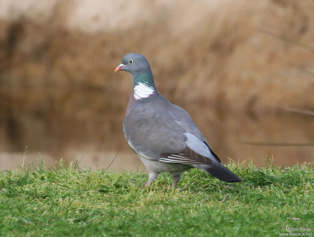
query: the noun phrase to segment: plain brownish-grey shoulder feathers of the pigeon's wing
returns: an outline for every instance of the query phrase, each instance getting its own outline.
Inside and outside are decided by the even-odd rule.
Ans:
[[[124,135],[133,150],[147,159],[162,153],[179,153],[185,148],[186,130],[166,111],[134,107],[124,119]]]

